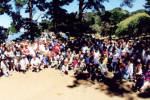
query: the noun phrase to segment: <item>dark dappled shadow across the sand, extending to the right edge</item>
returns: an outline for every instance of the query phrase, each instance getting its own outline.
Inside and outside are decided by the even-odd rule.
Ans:
[[[143,93],[136,93],[133,91],[133,82],[118,80],[112,77],[105,77],[102,82],[90,81],[87,73],[82,73],[76,76],[73,84],[68,85],[67,87],[73,89],[79,87],[80,85],[89,87],[93,86],[93,84],[96,84],[96,87],[94,87],[96,90],[103,91],[111,97],[119,96],[125,97],[126,100],[136,100],[136,98],[133,97],[133,95],[136,94],[136,97],[139,98],[150,98],[150,88],[147,88]]]

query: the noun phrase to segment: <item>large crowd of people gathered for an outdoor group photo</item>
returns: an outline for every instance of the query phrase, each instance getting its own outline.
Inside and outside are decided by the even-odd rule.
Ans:
[[[39,72],[59,69],[64,74],[88,73],[89,79],[103,81],[107,73],[135,82],[141,91],[150,83],[149,40],[100,40],[94,38],[56,38],[42,35],[34,41],[22,40],[0,44],[0,73]]]

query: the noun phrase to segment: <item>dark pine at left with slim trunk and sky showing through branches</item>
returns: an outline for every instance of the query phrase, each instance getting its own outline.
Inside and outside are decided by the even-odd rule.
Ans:
[[[36,10],[43,11],[43,9],[40,8],[40,5],[43,3],[45,3],[43,0],[15,0],[16,12],[13,11],[11,14],[15,28],[17,31],[21,28],[28,30],[26,35],[30,36],[32,40],[38,32],[38,25],[36,20],[33,20],[33,13],[35,13]],[[29,17],[24,18],[20,14],[21,9],[25,9],[24,13],[28,13]]]

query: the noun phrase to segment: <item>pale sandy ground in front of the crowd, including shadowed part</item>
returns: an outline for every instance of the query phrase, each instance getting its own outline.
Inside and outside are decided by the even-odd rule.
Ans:
[[[123,85],[123,84],[121,84]],[[129,87],[129,85],[127,85]],[[91,83],[63,75],[54,69],[38,73],[14,72],[0,78],[0,100],[149,100],[150,96],[131,92],[108,79]]]

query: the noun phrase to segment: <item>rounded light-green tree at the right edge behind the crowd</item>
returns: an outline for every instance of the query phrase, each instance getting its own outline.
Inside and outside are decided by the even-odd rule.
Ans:
[[[150,16],[146,13],[137,13],[118,24],[116,34],[118,36],[135,37],[143,33],[149,33]]]

